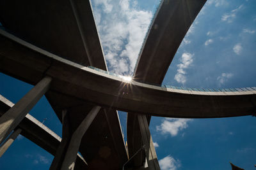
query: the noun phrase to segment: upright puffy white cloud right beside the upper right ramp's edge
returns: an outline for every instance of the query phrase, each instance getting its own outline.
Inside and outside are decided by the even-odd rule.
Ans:
[[[181,56],[181,63],[177,65],[178,69],[177,69],[177,74],[175,74],[174,79],[178,82],[178,83],[186,83],[187,78],[185,76],[186,71],[184,69],[188,68],[191,63],[193,62],[193,56],[194,54],[191,53],[182,53]]]

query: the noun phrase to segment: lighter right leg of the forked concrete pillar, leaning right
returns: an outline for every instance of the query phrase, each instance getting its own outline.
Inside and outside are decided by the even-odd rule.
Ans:
[[[77,152],[80,147],[81,139],[84,136],[84,133],[87,131],[88,127],[92,124],[93,119],[97,116],[97,113],[100,111],[100,106],[95,106],[84,118],[81,124],[77,127],[76,131],[72,134],[70,143],[68,145],[67,153],[65,159],[61,166],[61,170],[70,170],[74,169]]]

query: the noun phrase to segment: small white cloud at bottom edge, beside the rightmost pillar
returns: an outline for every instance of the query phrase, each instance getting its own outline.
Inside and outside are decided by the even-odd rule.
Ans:
[[[168,155],[167,157],[159,160],[159,166],[162,170],[176,170],[181,166],[181,164],[179,160],[175,160],[173,157]]]

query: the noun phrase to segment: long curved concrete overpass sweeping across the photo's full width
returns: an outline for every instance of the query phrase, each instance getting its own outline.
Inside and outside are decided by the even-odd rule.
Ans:
[[[8,35],[5,34],[5,36]],[[51,66],[44,71],[44,74],[53,78],[51,91],[72,96],[81,101],[90,101],[100,106],[160,117],[236,117],[255,113],[255,90],[197,92],[168,89],[136,81],[127,82],[122,78],[61,59],[40,48],[35,48],[35,46],[22,46],[19,43],[24,44],[24,41],[20,39],[16,38],[15,41],[19,43],[15,43],[15,41],[1,36],[0,42],[3,39],[4,41],[9,40],[8,43],[11,45],[4,43],[4,48],[1,48],[1,71],[12,74],[21,80],[33,82],[36,80],[36,76],[33,80],[22,71],[28,69],[29,72],[36,73],[38,71],[36,69],[41,67],[42,63],[44,65],[45,60],[52,60]],[[21,46],[22,51],[19,50]],[[15,50],[12,50],[13,48]],[[32,48],[33,51],[29,48]],[[40,57],[36,58],[36,62],[34,62],[35,57],[31,56],[33,53],[40,54]],[[19,56],[22,56],[22,59]],[[12,64],[18,67],[10,69],[9,66]]]

